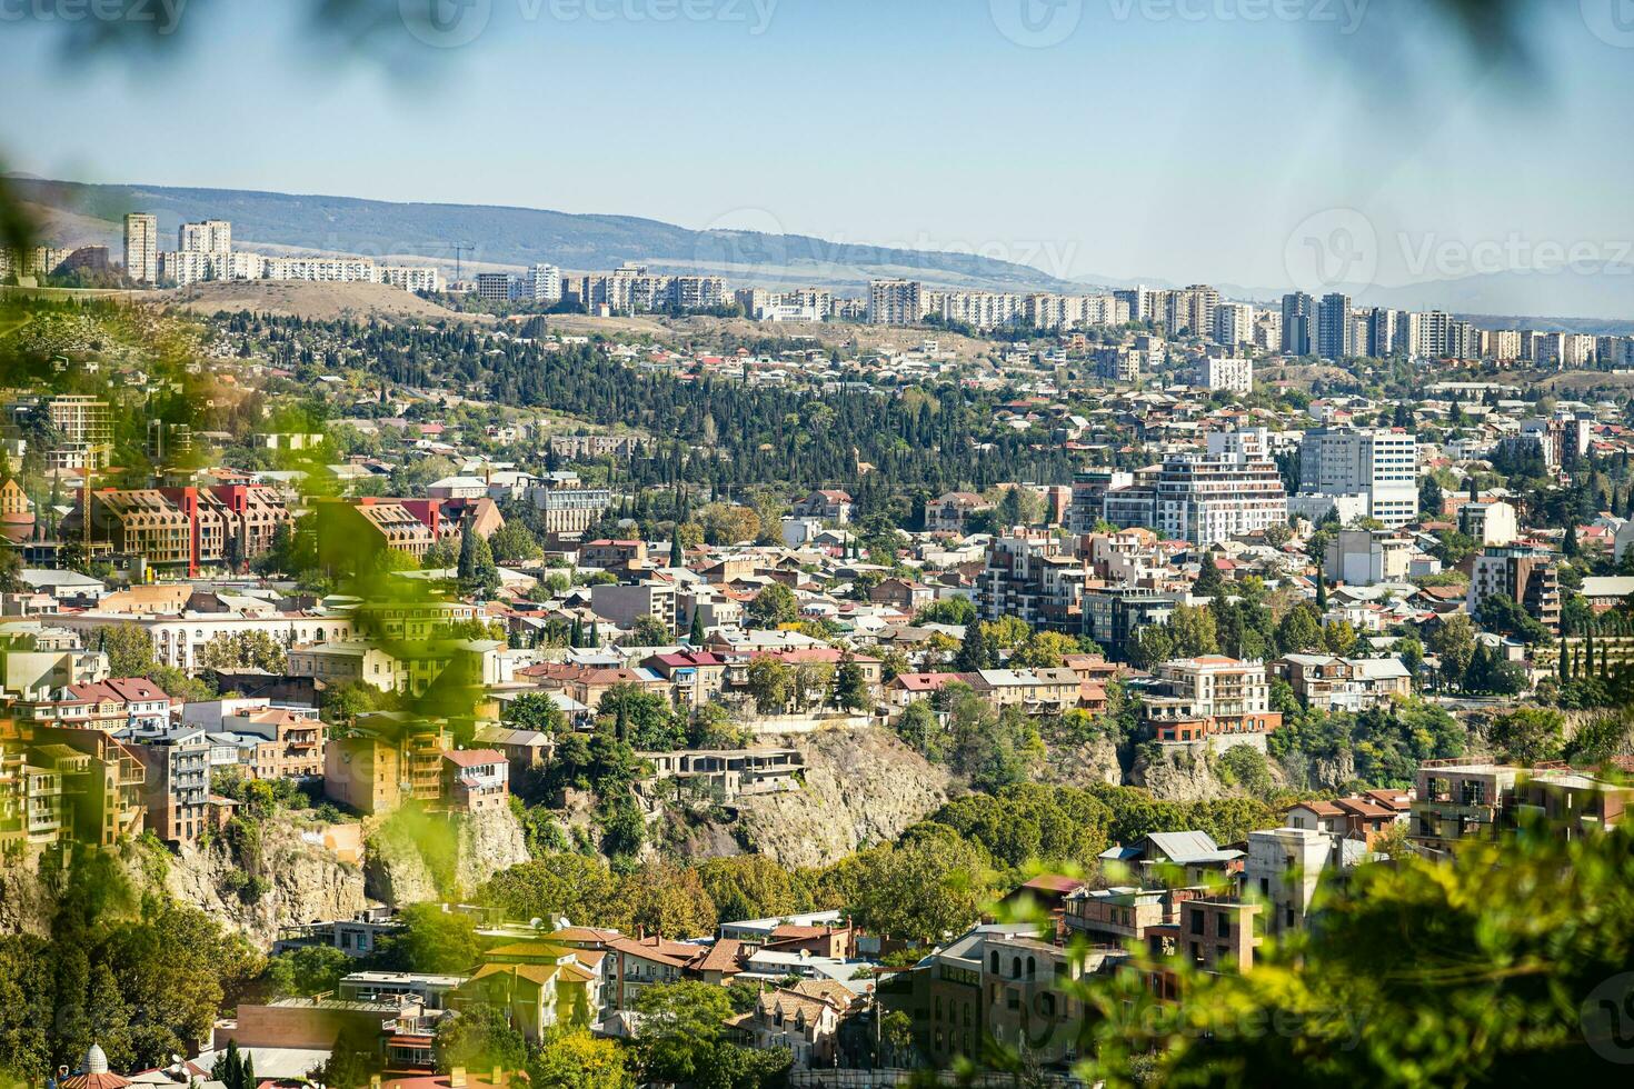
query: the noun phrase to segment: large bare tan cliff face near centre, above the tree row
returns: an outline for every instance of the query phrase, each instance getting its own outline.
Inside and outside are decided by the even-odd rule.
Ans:
[[[804,789],[743,798],[737,828],[748,851],[783,865],[827,865],[895,839],[948,800],[948,772],[884,730],[830,730],[783,743],[806,758]]]

